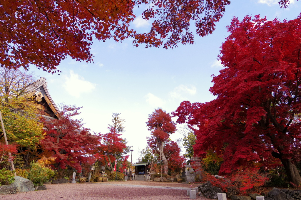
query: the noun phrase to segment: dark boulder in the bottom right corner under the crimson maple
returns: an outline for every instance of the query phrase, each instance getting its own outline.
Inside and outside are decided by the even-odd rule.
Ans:
[[[289,189],[278,189],[273,188],[265,196],[265,200],[300,200],[301,191],[300,190],[289,190]]]

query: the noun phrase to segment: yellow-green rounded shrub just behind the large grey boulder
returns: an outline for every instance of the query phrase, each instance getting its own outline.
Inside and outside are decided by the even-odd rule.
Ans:
[[[39,162],[31,162],[30,170],[27,178],[33,182],[34,186],[42,186],[43,183],[49,181],[51,177],[56,174],[55,170],[52,170],[50,167],[46,167]]]

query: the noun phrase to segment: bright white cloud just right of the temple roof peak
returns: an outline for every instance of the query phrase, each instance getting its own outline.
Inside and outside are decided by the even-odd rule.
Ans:
[[[70,77],[65,76],[65,84],[63,85],[67,93],[73,97],[80,97],[83,93],[90,93],[95,89],[95,84],[85,81],[85,79],[70,70]]]

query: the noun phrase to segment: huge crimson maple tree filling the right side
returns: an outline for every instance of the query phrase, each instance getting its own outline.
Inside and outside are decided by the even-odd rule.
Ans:
[[[223,152],[220,174],[278,158],[289,181],[299,185],[301,160],[301,16],[267,21],[233,18],[222,44],[225,66],[213,75],[206,103],[184,101],[177,122],[197,125],[194,152]]]

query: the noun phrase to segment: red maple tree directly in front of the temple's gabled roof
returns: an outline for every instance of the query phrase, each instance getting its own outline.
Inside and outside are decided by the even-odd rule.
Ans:
[[[61,104],[59,119],[43,118],[45,138],[40,140],[46,157],[54,157],[57,169],[67,166],[82,169],[81,163],[95,162],[94,146],[99,137],[92,135],[89,129],[83,128],[82,120],[74,117],[79,114],[80,107]]]

